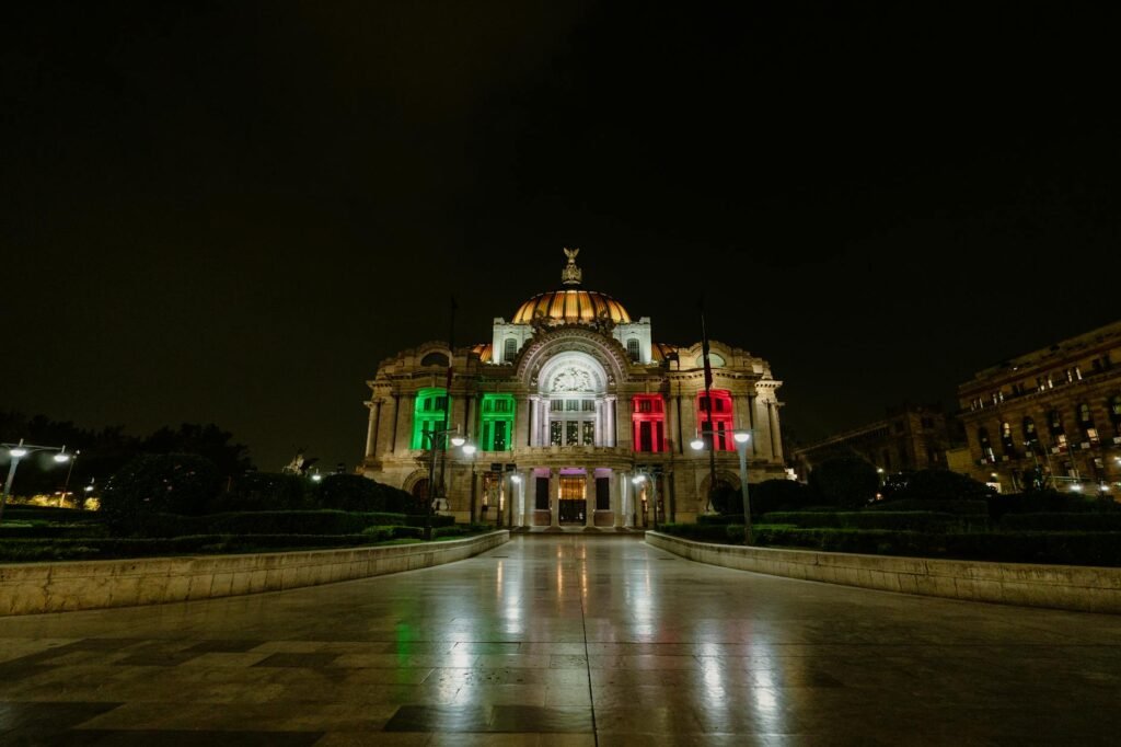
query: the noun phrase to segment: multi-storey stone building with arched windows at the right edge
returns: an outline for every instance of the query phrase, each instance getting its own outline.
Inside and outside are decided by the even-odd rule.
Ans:
[[[974,477],[1121,492],[1121,322],[980,371],[957,388]],[[1054,480],[1048,480],[1054,478]],[[1075,487],[1077,486],[1077,487]]]

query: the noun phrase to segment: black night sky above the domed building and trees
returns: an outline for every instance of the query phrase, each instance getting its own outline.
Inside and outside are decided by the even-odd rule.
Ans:
[[[585,286],[802,437],[1119,314],[1115,16],[1071,3],[19,3],[0,406],[353,465],[397,350]]]

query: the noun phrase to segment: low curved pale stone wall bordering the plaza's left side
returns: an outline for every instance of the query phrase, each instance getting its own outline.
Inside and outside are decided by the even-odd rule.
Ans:
[[[464,560],[509,532],[436,543],[247,555],[0,565],[0,616],[131,607],[282,591]]]

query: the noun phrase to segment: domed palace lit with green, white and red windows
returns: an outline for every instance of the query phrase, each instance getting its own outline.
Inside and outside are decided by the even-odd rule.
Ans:
[[[654,491],[638,472],[657,476],[659,519],[693,520],[712,481],[708,452],[689,448],[698,430],[715,434],[717,482],[740,485],[735,428],[753,433],[750,481],[784,476],[781,382],[767,361],[713,341],[710,406],[701,343],[654,342],[649,317],[581,287],[576,251],[566,250],[564,287],[495,317],[489,343],[453,354],[428,342],[382,361],[368,381],[363,474],[427,497],[427,434],[447,413],[479,448],[474,458],[448,448],[437,462],[441,508],[461,522],[501,510],[516,526],[643,526]]]

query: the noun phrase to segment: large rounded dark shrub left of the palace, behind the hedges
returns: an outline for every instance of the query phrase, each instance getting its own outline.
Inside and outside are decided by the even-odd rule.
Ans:
[[[115,532],[136,532],[152,514],[204,513],[217,488],[217,468],[209,459],[143,454],[110,478],[101,496],[101,513]]]

